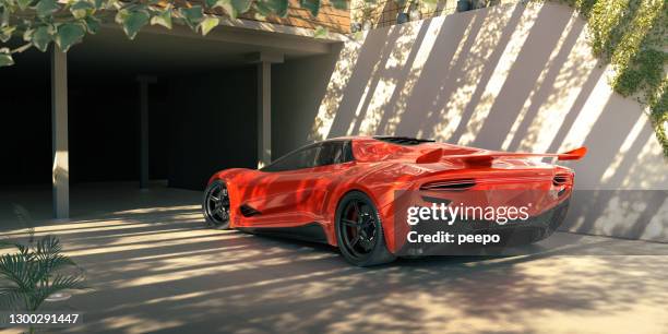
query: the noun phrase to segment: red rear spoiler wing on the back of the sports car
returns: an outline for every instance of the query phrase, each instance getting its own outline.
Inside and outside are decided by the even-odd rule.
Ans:
[[[556,157],[558,160],[578,160],[587,154],[587,147],[580,147],[564,153],[512,153],[512,152],[493,152],[486,151],[482,153],[463,154],[463,155],[445,155],[443,150],[437,148],[420,155],[416,164],[433,164],[440,162],[443,157],[451,160],[460,160],[470,167],[489,167],[494,159],[513,158],[513,157]]]

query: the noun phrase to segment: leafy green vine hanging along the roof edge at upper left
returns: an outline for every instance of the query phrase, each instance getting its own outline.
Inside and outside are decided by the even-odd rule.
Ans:
[[[331,0],[338,9],[349,0]],[[201,4],[200,4],[201,3]],[[301,8],[317,16],[320,0],[300,0]],[[86,34],[95,34],[103,23],[116,22],[130,39],[146,25],[162,25],[171,29],[172,22],[188,25],[202,35],[220,23],[216,8],[232,19],[249,11],[257,15],[286,16],[288,0],[0,0],[0,41],[21,37],[23,46],[14,49],[0,47],[0,67],[14,63],[13,53],[31,47],[46,51],[56,43],[62,51],[81,41]]]

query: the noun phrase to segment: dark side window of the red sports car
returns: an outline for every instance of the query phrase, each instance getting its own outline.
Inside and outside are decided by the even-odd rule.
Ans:
[[[285,171],[341,164],[353,160],[349,141],[331,141],[312,144],[288,153],[262,171]]]

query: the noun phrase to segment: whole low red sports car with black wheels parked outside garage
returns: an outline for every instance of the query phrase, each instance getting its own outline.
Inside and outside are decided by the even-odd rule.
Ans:
[[[530,229],[526,242],[534,242],[561,224],[573,188],[571,169],[536,158],[580,159],[585,153],[585,147],[530,154],[404,136],[337,138],[298,148],[261,169],[214,174],[202,208],[212,227],[326,242],[348,262],[368,266],[393,261],[405,246],[411,228],[397,217],[401,193],[408,193],[413,204],[430,206],[512,190],[539,193],[530,195],[539,198],[528,214],[546,218],[518,225]],[[509,225],[502,227],[515,228]]]

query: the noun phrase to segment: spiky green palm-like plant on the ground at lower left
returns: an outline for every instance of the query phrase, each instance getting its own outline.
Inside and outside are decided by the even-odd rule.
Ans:
[[[53,294],[84,289],[84,274],[62,254],[57,237],[34,242],[1,241],[17,251],[0,257],[0,309],[35,312]]]

